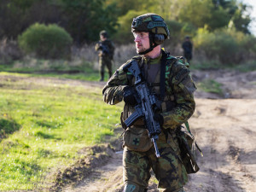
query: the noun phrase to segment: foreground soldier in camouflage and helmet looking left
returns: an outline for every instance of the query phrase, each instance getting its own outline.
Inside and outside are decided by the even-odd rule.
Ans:
[[[143,119],[137,119],[131,127],[124,126],[124,191],[147,191],[152,168],[159,181],[160,191],[183,192],[183,185],[188,177],[175,131],[195,111],[195,84],[189,75],[189,69],[160,48],[160,44],[170,34],[160,15],[137,16],[132,21],[131,32],[139,55],[119,67],[108,80],[102,90],[103,100],[110,105],[125,102],[121,113],[121,123],[124,125],[124,120],[135,110],[137,90],[134,89],[134,77],[124,71],[123,67],[136,60],[150,90],[160,101],[160,109],[154,112],[154,120],[161,125],[161,133],[156,142],[160,158],[155,155],[154,145],[148,137]]]

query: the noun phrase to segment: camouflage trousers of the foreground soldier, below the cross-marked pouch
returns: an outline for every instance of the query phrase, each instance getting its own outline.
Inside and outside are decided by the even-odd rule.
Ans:
[[[154,146],[146,152],[133,151],[125,147],[123,154],[125,186],[137,186],[131,191],[146,191],[151,168],[159,181],[160,191],[183,191],[188,176],[180,159],[176,136],[172,137],[169,134],[168,138],[160,137],[157,145],[160,158],[155,156]]]

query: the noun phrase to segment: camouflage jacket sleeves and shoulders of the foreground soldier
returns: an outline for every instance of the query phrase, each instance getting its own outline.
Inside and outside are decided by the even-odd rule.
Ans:
[[[133,57],[138,61],[139,66],[142,66],[143,56]],[[131,60],[130,60],[131,61]],[[123,100],[123,90],[125,86],[134,83],[131,74],[125,73],[124,65],[113,74],[113,77],[108,80],[108,83],[102,90],[103,100],[110,105],[115,105]],[[178,125],[186,122],[195,111],[194,91],[195,84],[190,77],[189,69],[176,57],[168,56],[166,59],[166,77],[165,77],[165,99],[162,102],[162,110],[160,114],[164,117],[163,128],[175,129]],[[160,75],[155,79],[155,82],[160,82]],[[157,90],[160,89],[155,89]],[[168,107],[169,106],[169,107]],[[128,109],[127,109],[128,108]],[[134,111],[129,105],[125,104],[124,119],[129,117]]]

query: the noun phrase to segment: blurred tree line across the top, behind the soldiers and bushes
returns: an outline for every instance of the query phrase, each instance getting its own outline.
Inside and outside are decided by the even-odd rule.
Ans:
[[[127,43],[124,39],[132,40],[132,18],[147,12],[163,16],[171,38],[195,36],[198,28],[234,28],[249,34],[250,9],[236,0],[1,0],[0,38],[17,39],[38,22],[63,27],[75,44],[96,41],[102,29],[113,40]]]

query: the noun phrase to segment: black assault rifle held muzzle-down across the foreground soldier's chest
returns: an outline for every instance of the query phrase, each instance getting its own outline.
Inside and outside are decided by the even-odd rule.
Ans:
[[[157,109],[157,98],[150,94],[147,83],[143,80],[143,73],[138,67],[137,61],[131,61],[124,68],[124,71],[130,72],[135,77],[135,88],[137,90],[137,106],[135,112],[125,119],[125,125],[131,126],[138,118],[143,117],[144,123],[148,130],[148,136],[154,143],[155,155],[160,157],[156,140],[160,135],[160,123],[154,120],[154,110]]]

